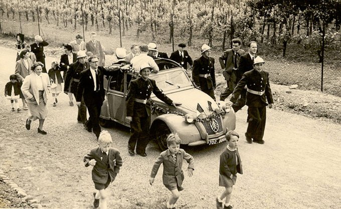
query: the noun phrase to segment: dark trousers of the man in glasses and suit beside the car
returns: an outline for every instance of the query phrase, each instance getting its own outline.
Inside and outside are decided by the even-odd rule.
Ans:
[[[99,126],[99,115],[101,114],[102,102],[87,105],[86,107],[89,111],[89,120],[86,123],[86,127],[89,130],[92,129],[92,132],[94,132],[98,139],[98,136],[101,133],[101,127]]]

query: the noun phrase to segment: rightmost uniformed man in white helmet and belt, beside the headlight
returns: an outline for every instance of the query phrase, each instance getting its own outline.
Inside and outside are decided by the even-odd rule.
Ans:
[[[272,108],[272,93],[269,83],[269,73],[263,70],[264,60],[261,57],[254,59],[254,69],[243,74],[232,93],[230,103],[235,103],[240,93],[246,88],[246,105],[249,124],[245,133],[246,141],[264,144],[263,135],[266,121],[266,106]],[[268,102],[268,104],[266,103]]]

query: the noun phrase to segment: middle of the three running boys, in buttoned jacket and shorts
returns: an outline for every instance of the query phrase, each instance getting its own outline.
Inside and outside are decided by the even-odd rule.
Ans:
[[[162,180],[163,185],[172,192],[172,196],[167,201],[166,208],[175,209],[176,202],[180,197],[180,192],[184,190],[182,187],[184,180],[184,172],[182,170],[183,159],[188,162],[188,175],[191,177],[194,170],[193,156],[180,149],[181,139],[178,135],[169,134],[166,139],[168,149],[161,152],[156,159],[151,170],[149,183],[153,184],[157,170],[161,163],[163,164]]]

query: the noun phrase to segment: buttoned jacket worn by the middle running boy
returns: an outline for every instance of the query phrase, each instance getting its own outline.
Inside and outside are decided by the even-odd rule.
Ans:
[[[184,159],[188,162],[188,168],[194,169],[194,158],[185,150],[179,149],[176,162],[174,162],[173,156],[170,154],[170,151],[168,149],[161,152],[153,165],[150,177],[154,178],[156,176],[158,168],[162,163],[163,184],[170,186],[181,186],[184,180],[184,172],[182,170]]]

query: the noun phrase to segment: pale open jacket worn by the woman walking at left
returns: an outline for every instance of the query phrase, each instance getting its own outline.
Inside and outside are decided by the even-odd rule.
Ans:
[[[47,104],[47,95],[51,91],[51,83],[50,78],[47,73],[41,73],[42,83],[44,88],[44,102]],[[21,87],[23,95],[27,103],[34,103],[40,104],[42,101],[39,101],[39,91],[37,89],[37,82],[36,82],[36,74],[32,73],[26,76],[23,85]]]

